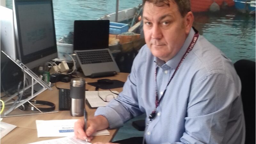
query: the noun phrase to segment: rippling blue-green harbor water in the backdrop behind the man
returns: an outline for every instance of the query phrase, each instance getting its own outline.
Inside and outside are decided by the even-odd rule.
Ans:
[[[138,6],[142,0],[119,0],[119,10]],[[12,0],[6,0],[12,9]],[[73,31],[74,20],[96,20],[116,11],[116,0],[53,0],[56,39]],[[195,13],[194,27],[233,62],[255,61],[255,15],[235,7],[215,13]]]

